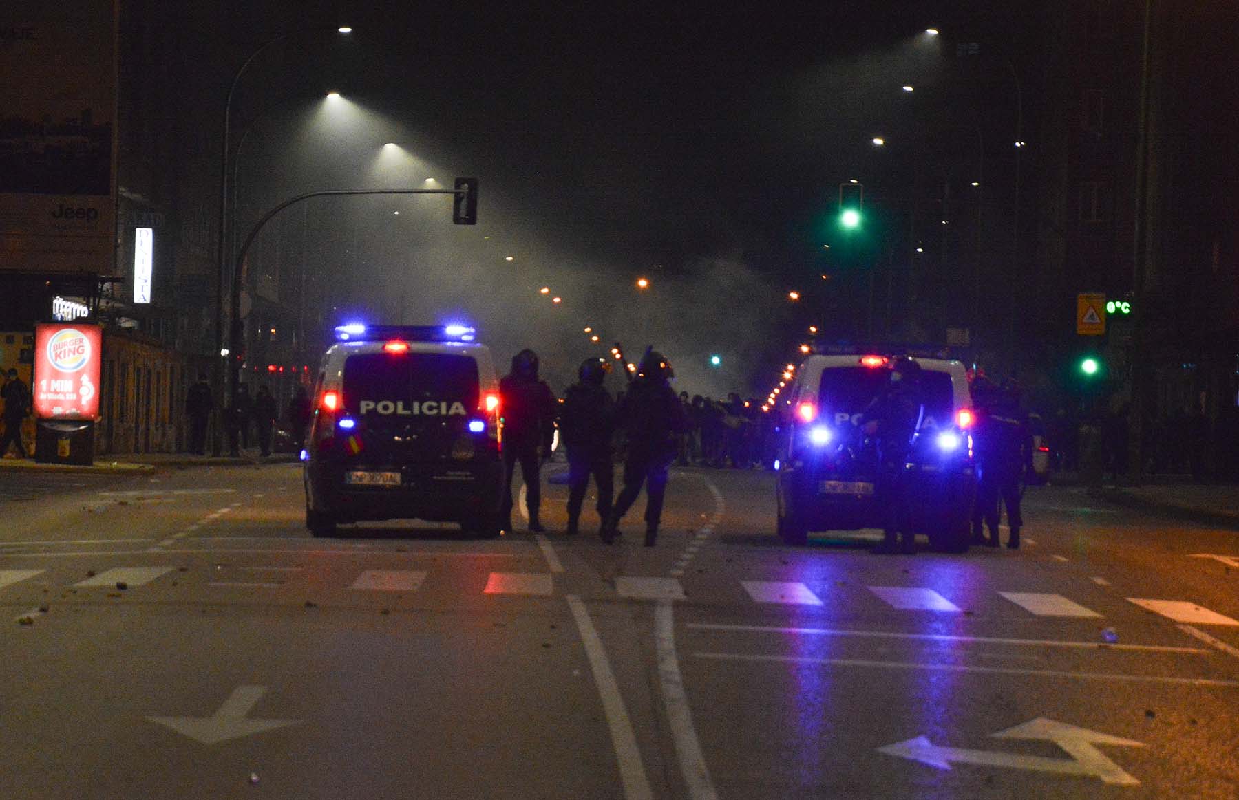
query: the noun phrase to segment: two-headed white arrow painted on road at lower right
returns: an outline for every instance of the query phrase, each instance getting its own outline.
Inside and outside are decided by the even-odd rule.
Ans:
[[[1082,775],[1100,778],[1104,783],[1121,786],[1135,786],[1140,781],[1123,772],[1118,764],[1106,758],[1094,744],[1115,744],[1120,747],[1144,747],[1142,742],[1123,739],[1109,733],[1099,733],[1088,728],[1037,717],[1006,731],[990,736],[1000,739],[1042,739],[1053,742],[1070,755],[1067,758],[1044,758],[1042,755],[1023,755],[1020,753],[1001,753],[997,750],[971,750],[959,747],[939,747],[928,738],[918,736],[906,742],[896,742],[880,747],[880,753],[898,755],[938,769],[950,769],[952,762],[963,764],[981,764],[985,767],[1006,767],[1009,769],[1030,769],[1061,775]]]

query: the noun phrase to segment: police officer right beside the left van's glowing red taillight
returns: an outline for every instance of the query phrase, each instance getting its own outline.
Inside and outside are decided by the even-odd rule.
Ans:
[[[512,530],[512,474],[520,464],[525,482],[529,530],[544,530],[538,519],[541,485],[538,474],[541,461],[550,456],[555,436],[555,411],[559,405],[545,380],[538,379],[538,354],[524,349],[512,357],[512,372],[499,380],[503,399],[503,530]]]

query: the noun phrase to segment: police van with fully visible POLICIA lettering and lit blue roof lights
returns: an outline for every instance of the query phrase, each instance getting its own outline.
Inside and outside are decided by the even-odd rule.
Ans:
[[[388,519],[499,534],[499,380],[473,328],[339,326],[312,398],[301,451],[311,534]]]

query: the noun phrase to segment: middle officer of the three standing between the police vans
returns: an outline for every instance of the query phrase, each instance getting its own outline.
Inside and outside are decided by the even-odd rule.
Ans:
[[[580,381],[564,393],[559,433],[567,448],[567,534],[575,535],[585,504],[590,476],[598,485],[598,518],[605,525],[615,493],[611,437],[616,427],[616,404],[603,380],[610,364],[601,358],[581,363]]]

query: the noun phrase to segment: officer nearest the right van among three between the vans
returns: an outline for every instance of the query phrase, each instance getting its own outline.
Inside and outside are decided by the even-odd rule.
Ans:
[[[623,490],[611,516],[603,524],[602,541],[608,545],[620,535],[620,520],[646,484],[646,546],[658,540],[667,494],[667,468],[675,459],[679,436],[684,431],[684,407],[669,379],[672,364],[658,352],[648,350],[637,368],[637,378],[620,406],[620,425],[628,441],[623,466]]]

